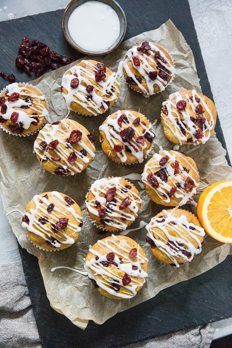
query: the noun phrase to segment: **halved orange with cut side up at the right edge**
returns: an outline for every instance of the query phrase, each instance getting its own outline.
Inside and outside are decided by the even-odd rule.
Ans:
[[[201,193],[197,216],[211,237],[232,243],[232,180],[215,182]]]

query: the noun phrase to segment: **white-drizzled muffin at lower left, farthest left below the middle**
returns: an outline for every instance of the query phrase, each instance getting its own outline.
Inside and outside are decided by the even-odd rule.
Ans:
[[[83,225],[79,205],[57,191],[35,195],[27,204],[22,221],[31,242],[47,251],[71,246]]]

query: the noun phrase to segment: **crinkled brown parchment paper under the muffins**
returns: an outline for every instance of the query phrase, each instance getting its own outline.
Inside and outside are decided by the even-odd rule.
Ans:
[[[157,120],[157,124],[154,126],[156,135],[154,151],[159,151],[159,145],[165,150],[171,150],[174,144],[165,137],[160,121],[162,102],[168,98],[170,93],[181,89],[194,88],[198,92],[201,91],[192,51],[186,44],[182,34],[170,20],[156,30],[143,33],[123,42],[117,50],[105,57],[100,57],[99,61],[104,62],[113,71],[117,71],[118,64],[125,56],[126,51],[143,40],[150,40],[168,50],[176,65],[174,80],[165,92],[145,98],[131,90],[126,85],[124,79],[120,78],[120,96],[110,111],[96,117],[85,117],[71,112],[69,118],[73,118],[83,124],[96,137],[96,156],[89,167],[82,173],[63,177],[44,172],[32,152],[36,135],[16,137],[3,131],[0,132],[2,178],[0,187],[6,213],[12,209],[20,209],[24,212],[26,204],[34,195],[53,190],[66,193],[77,201],[82,209],[84,225],[78,241],[71,247],[56,252],[43,252],[33,246],[26,237],[25,229],[21,227],[22,216],[18,213],[8,216],[19,243],[39,259],[51,306],[81,328],[85,328],[90,319],[98,324],[102,324],[117,312],[152,298],[163,288],[207,271],[222,262],[230,252],[230,245],[219,243],[207,236],[201,254],[196,255],[192,262],[187,262],[180,268],[170,267],[160,263],[152,255],[150,246],[145,243],[145,228],[129,232],[129,237],[135,239],[143,247],[149,258],[149,276],[138,294],[134,298],[124,301],[105,298],[93,287],[87,277],[76,272],[67,269],[58,269],[55,272],[50,271],[55,266],[69,266],[82,270],[83,259],[88,252],[89,245],[93,245],[99,238],[107,236],[99,235],[99,230],[90,222],[85,213],[85,195],[91,183],[96,179],[107,176],[122,176],[133,172],[142,173],[145,161],[152,156],[151,153],[143,164],[130,166],[117,164],[108,159],[101,150],[98,132],[98,127],[108,114],[119,109],[128,109],[142,112],[152,123]],[[73,63],[70,64],[70,66],[72,65]],[[50,106],[49,122],[66,116],[67,110],[60,93],[60,86],[63,73],[67,69],[68,66],[60,68],[44,75],[40,79],[32,81],[32,84],[38,86],[48,99]],[[205,185],[218,180],[232,180],[232,169],[227,165],[224,157],[225,150],[215,134],[211,136],[206,144],[197,146],[183,145],[180,151],[189,153],[196,161],[199,169],[200,189],[198,195],[194,198],[195,201],[197,201],[199,193],[202,192]],[[148,223],[151,217],[164,207],[153,203],[146,196],[145,191],[139,187],[137,181],[133,182],[133,184],[139,189],[143,199],[139,217],[131,226],[131,228],[136,228],[139,226],[139,221],[144,220]],[[186,205],[183,208],[195,213],[193,205]]]

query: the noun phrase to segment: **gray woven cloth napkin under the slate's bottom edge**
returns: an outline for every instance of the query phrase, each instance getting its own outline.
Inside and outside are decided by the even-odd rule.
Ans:
[[[41,348],[21,261],[0,264],[0,282],[0,348]],[[214,330],[210,323],[121,348],[208,348]]]

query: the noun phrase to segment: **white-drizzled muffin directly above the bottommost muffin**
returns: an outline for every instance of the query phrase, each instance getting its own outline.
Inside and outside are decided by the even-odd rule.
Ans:
[[[86,195],[86,212],[92,222],[108,231],[125,230],[138,216],[142,199],[121,177],[96,180]]]

